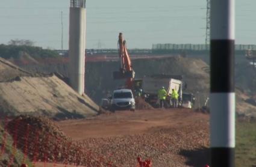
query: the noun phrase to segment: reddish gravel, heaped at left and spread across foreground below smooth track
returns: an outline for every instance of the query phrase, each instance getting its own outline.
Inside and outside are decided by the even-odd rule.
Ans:
[[[42,117],[17,117],[8,123],[8,130],[17,139],[17,147],[31,160],[39,162],[93,167],[136,166],[137,157],[142,157],[152,160],[154,167],[208,163],[207,157],[198,162],[187,162],[195,154],[193,151],[209,145],[205,121],[179,129],[157,127],[146,134],[89,138],[77,142],[72,142],[57,126]]]

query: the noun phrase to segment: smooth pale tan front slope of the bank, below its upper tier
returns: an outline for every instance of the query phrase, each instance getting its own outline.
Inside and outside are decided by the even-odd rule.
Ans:
[[[57,76],[19,79],[0,83],[1,99],[13,109],[10,112],[46,114],[58,118],[83,118],[95,115],[95,111],[98,110]]]

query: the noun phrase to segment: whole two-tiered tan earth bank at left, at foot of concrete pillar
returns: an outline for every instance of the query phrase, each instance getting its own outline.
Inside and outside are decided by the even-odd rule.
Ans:
[[[54,74],[34,74],[0,58],[0,113],[45,115],[55,119],[96,115],[99,107]],[[1,80],[2,79],[2,80]]]

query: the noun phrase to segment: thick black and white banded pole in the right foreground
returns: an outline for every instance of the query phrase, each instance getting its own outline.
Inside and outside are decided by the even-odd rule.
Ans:
[[[234,1],[211,0],[211,167],[235,166]]]

